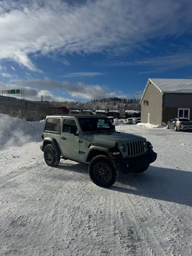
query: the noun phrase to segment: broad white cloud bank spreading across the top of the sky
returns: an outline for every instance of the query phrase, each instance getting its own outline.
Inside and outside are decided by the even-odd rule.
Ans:
[[[191,1],[0,2],[0,59],[39,71],[36,53],[126,53],[152,38],[190,30]],[[64,63],[69,65],[64,59]]]

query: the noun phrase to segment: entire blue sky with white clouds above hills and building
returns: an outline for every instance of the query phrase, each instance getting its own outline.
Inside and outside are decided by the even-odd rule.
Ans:
[[[148,78],[191,79],[191,10],[191,0],[0,0],[0,90],[85,102],[140,98]]]

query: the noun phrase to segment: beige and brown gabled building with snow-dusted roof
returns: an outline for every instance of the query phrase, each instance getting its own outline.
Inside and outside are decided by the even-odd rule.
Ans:
[[[165,125],[174,117],[192,120],[192,79],[149,79],[140,104],[141,123]]]

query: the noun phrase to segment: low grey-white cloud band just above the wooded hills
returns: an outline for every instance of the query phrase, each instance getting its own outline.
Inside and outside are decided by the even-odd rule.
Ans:
[[[72,82],[64,81],[59,82],[48,77],[44,80],[40,79],[28,79],[28,80],[12,80],[12,88],[18,88],[24,90],[26,98],[40,100],[43,95],[44,100],[69,100],[73,97],[74,100],[94,100],[95,98],[107,98],[107,97],[129,97],[123,92],[111,92],[106,85],[97,84],[84,84],[78,82],[74,84]],[[54,90],[54,92],[53,92]],[[57,94],[60,93],[58,97]],[[62,93],[62,94],[61,94]],[[68,97],[62,97],[62,95],[68,95]],[[133,96],[132,96],[133,97]]]

